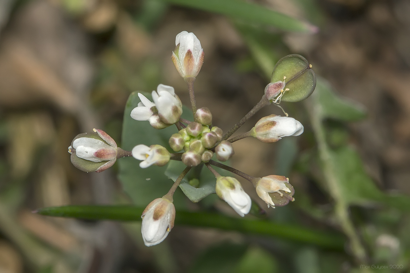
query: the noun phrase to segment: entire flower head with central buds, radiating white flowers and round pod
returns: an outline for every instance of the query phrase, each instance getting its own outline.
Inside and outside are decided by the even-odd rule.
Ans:
[[[251,198],[235,177],[222,176],[212,166],[230,171],[251,182],[257,195],[268,207],[284,206],[293,201],[294,188],[287,177],[253,177],[221,162],[234,155],[232,143],[240,139],[254,137],[259,141],[272,143],[285,136],[302,134],[303,125],[285,113],[286,116],[263,117],[249,132],[231,138],[232,134],[263,107],[272,103],[278,105],[281,100],[300,101],[307,98],[316,86],[312,66],[305,58],[300,55],[283,57],[276,64],[271,83],[266,86],[260,102],[224,133],[221,128],[212,125],[212,114],[207,107],[196,108],[194,81],[202,67],[204,52],[195,34],[183,31],[176,36],[171,59],[187,83],[194,120],[181,118],[182,103],[174,88],[164,84],[159,84],[157,91],[152,91],[153,102],[138,93],[141,102],[130,114],[134,120],[149,121],[150,125],[158,130],[175,125],[178,131],[169,138],[169,148],[157,144],[139,144],[132,151],[125,151],[118,148],[105,132],[94,129],[92,133],[78,135],[68,149],[74,166],[87,172],[103,171],[112,166],[117,158],[124,156],[140,160],[141,168],[164,166],[170,160],[185,164],[185,170],[175,180],[169,192],[150,202],[141,216],[141,233],[146,246],[162,242],[171,231],[175,218],[173,194],[185,175],[196,166],[206,166],[214,174],[214,192],[240,216],[250,212]]]

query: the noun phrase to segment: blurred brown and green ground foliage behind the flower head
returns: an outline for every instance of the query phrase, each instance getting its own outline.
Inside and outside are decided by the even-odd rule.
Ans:
[[[409,272],[409,14],[407,0],[1,0],[0,272]],[[179,192],[173,231],[147,248],[140,222],[98,219],[139,218],[142,185],[171,186],[165,168],[144,174],[161,181],[121,183],[118,165],[132,159],[83,173],[67,147],[93,128],[119,146],[134,145],[132,130],[149,141],[123,133],[134,91],[171,85],[189,105],[170,58],[182,30],[205,51],[197,104],[223,130],[260,100],[281,57],[306,57],[318,82],[281,104],[303,135],[234,145],[232,166],[288,176],[294,202],[267,209],[242,181],[255,204],[239,219],[214,194],[191,203]],[[281,111],[262,109],[238,134],[269,114]],[[95,204],[137,208],[32,214]]]

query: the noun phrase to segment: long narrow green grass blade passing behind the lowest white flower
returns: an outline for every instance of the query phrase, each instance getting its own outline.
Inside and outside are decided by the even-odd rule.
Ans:
[[[39,209],[37,213],[91,220],[141,221],[144,207],[125,205],[46,207]],[[339,233],[313,230],[298,225],[278,224],[266,220],[234,218],[207,212],[177,211],[175,224],[269,235],[333,250],[343,250],[344,248],[344,237]]]

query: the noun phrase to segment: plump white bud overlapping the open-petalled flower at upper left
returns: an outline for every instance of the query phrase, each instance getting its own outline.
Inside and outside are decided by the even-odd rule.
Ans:
[[[152,96],[158,115],[164,123],[173,124],[179,120],[182,114],[182,102],[172,86],[159,84],[157,91],[152,92]]]

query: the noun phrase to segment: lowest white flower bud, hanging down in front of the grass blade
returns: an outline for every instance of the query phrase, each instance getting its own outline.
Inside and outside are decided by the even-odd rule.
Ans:
[[[155,246],[164,241],[174,226],[174,204],[164,198],[157,198],[144,209],[141,218],[142,239],[146,246]]]

